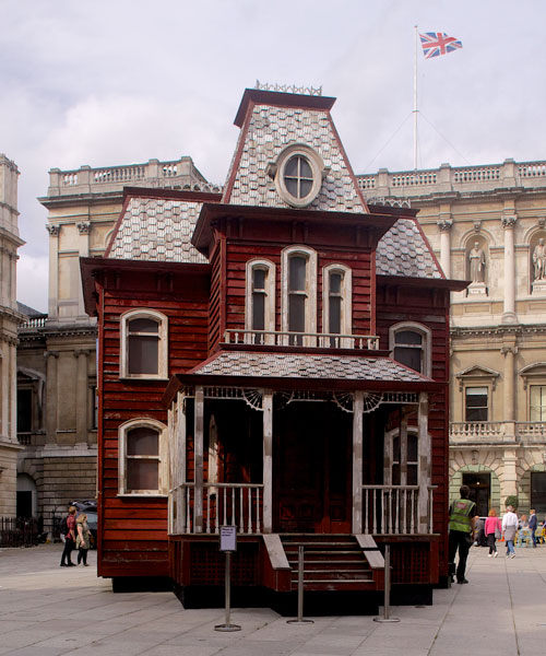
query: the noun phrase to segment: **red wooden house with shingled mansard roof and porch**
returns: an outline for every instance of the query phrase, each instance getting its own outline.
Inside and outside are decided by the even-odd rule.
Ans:
[[[333,98],[247,90],[222,195],[127,189],[104,258],[98,574],[377,600],[447,581],[449,297],[407,208],[368,207]],[[413,597],[414,598],[414,597]]]

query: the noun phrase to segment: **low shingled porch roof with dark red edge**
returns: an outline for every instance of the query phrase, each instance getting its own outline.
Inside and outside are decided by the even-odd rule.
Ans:
[[[444,384],[385,356],[219,351],[171,379],[164,401],[181,385],[434,391]]]

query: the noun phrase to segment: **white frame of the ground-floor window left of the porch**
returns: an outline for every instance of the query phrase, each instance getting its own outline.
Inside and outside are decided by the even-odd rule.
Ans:
[[[128,490],[127,489],[127,435],[134,429],[152,429],[157,432],[158,444],[158,489],[157,490]],[[138,418],[126,421],[118,429],[119,456],[118,456],[118,496],[166,496],[168,492],[168,462],[167,462],[167,426],[155,419]],[[142,456],[143,457],[143,456]],[[155,459],[155,456],[154,456]]]

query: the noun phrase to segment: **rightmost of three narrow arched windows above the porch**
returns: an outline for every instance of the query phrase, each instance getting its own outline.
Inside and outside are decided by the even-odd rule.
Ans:
[[[330,265],[322,271],[322,331],[327,335],[352,332],[352,274],[343,265]],[[331,347],[349,347],[347,340],[328,338]]]

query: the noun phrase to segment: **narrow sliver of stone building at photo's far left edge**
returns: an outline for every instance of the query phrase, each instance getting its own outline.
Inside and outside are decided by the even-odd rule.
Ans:
[[[20,449],[16,434],[16,344],[17,311],[19,171],[0,154],[0,516],[15,516],[16,464]]]

